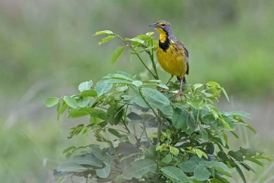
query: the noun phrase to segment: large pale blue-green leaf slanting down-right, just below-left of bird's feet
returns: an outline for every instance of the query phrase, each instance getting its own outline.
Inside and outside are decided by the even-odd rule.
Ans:
[[[170,101],[167,96],[164,96],[158,90],[151,88],[142,88],[141,92],[148,103],[150,103],[150,106],[159,109],[159,111],[165,115],[172,115],[173,110],[170,106]]]

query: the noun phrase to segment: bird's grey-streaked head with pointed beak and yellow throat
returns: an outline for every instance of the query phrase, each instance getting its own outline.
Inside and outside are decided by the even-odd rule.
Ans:
[[[154,27],[157,32],[160,34],[160,42],[164,42],[167,37],[172,35],[172,29],[170,23],[165,20],[159,20],[157,23],[150,24],[150,27]]]

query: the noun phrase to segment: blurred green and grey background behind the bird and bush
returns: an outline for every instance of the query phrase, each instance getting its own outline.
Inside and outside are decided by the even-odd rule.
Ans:
[[[93,34],[135,37],[154,31],[148,25],[157,20],[168,20],[187,46],[188,82],[219,82],[231,101],[218,106],[251,113],[258,133],[240,129],[235,145],[273,155],[273,7],[271,0],[0,0],[0,182],[53,182],[63,149],[88,144],[91,135],[67,140],[74,121],[57,122],[44,99],[74,94],[80,82],[109,72],[143,72],[126,54],[111,65],[120,42],[98,46]],[[160,76],[169,78],[163,70]],[[255,170],[260,176],[246,172],[249,182],[274,181],[273,163]]]

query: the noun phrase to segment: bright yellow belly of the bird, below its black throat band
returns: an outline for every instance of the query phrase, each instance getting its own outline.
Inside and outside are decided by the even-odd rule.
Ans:
[[[181,52],[172,50],[172,47],[166,51],[157,50],[157,59],[161,67],[171,75],[183,77],[186,72],[185,56]]]

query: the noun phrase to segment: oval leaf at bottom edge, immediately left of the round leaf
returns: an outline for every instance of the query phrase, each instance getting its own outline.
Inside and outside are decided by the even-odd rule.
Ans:
[[[168,177],[169,179],[173,179],[176,181],[185,181],[188,180],[188,177],[185,175],[183,170],[176,168],[175,166],[167,166],[161,168],[163,175]]]

